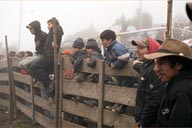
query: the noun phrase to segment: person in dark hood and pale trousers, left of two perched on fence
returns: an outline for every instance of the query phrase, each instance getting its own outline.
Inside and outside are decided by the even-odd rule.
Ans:
[[[22,60],[19,65],[21,68],[25,69],[30,74],[30,66],[33,62],[39,59],[40,55],[43,54],[43,48],[47,39],[47,33],[41,30],[41,24],[39,21],[35,20],[26,26],[32,35],[35,35],[35,50],[36,56],[27,57]]]

